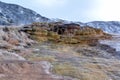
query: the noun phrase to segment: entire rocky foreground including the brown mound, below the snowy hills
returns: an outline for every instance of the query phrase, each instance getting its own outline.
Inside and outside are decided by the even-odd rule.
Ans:
[[[60,25],[58,34],[32,26],[0,29],[0,80],[120,80],[118,52],[98,42],[110,35],[90,27],[77,34],[64,28],[66,34]]]

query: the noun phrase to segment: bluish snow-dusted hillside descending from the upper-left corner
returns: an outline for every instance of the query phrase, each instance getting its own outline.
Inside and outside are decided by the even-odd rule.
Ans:
[[[48,20],[30,9],[0,2],[0,25],[21,25],[31,22],[47,22]]]

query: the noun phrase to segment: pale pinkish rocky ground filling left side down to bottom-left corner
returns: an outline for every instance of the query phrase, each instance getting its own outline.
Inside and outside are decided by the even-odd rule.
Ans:
[[[36,41],[19,30],[13,27],[0,29],[0,80],[63,80],[49,72],[49,62],[28,61],[24,57],[34,51],[30,46]]]

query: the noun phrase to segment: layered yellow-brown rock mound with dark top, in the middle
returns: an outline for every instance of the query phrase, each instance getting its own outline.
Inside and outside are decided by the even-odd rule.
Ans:
[[[81,27],[75,23],[33,23],[24,27],[22,31],[27,32],[32,39],[37,41],[65,44],[96,44],[99,39],[111,37],[100,29]]]

